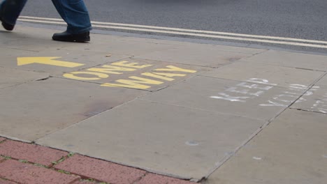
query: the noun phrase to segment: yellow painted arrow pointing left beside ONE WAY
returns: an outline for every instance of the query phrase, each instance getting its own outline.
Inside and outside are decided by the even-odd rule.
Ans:
[[[58,59],[61,57],[18,57],[17,58],[17,66],[28,65],[31,63],[39,63],[51,66],[62,66],[68,68],[74,68],[78,66],[83,66],[81,63],[73,63],[68,61],[57,61],[52,59]]]

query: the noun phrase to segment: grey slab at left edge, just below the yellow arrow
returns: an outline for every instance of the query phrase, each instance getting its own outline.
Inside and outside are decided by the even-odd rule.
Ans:
[[[49,74],[45,72],[28,72],[0,67],[0,89],[48,77],[50,77]]]

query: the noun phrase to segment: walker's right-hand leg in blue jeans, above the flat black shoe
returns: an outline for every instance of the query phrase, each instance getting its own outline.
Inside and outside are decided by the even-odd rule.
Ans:
[[[92,29],[83,0],[52,0],[62,19],[68,24],[67,33],[85,33]]]

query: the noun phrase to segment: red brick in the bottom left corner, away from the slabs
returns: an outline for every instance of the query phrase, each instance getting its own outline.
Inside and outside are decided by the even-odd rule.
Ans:
[[[52,169],[37,167],[33,164],[25,164],[17,160],[1,162],[0,177],[24,184],[63,184],[72,183],[80,179],[79,176],[59,173]]]

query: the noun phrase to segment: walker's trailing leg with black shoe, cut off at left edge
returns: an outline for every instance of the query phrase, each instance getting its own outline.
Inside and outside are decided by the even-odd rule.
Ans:
[[[20,16],[22,9],[27,0],[4,0],[0,4],[0,20],[2,25],[8,31],[13,30],[17,18]]]

